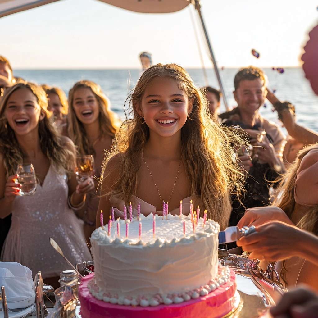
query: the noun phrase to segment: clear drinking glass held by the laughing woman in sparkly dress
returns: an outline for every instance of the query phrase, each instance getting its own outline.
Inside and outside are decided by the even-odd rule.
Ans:
[[[22,163],[17,168],[18,183],[21,183],[20,196],[30,196],[37,189],[37,178],[32,163]]]

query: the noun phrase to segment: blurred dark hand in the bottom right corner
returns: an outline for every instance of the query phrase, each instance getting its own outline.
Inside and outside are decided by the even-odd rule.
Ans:
[[[275,318],[318,318],[318,297],[308,287],[298,287],[269,311]]]

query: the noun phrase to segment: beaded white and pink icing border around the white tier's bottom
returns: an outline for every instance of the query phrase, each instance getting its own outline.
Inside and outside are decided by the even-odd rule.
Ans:
[[[218,277],[216,280],[210,280],[208,284],[200,286],[199,288],[190,290],[186,293],[174,293],[168,295],[157,294],[154,297],[147,297],[146,295],[139,295],[137,298],[132,296],[121,296],[117,294],[110,294],[103,292],[94,281],[90,281],[87,285],[90,293],[98,300],[110,302],[111,304],[125,305],[125,306],[158,306],[160,304],[171,305],[172,303],[180,304],[183,301],[189,301],[190,299],[196,299],[200,296],[206,296],[207,294],[218,289],[218,287],[227,283],[230,278],[230,269],[228,266],[219,266]]]

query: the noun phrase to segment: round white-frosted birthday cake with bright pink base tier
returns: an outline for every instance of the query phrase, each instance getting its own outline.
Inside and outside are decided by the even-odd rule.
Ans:
[[[219,225],[191,216],[117,220],[91,237],[94,273],[79,286],[83,318],[220,318],[239,302],[218,262]]]

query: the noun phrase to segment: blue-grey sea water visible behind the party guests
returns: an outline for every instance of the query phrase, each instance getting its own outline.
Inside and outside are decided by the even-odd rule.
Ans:
[[[236,106],[233,98],[234,76],[237,68],[221,70],[227,101],[230,107]],[[187,69],[197,86],[205,86],[201,69]],[[209,85],[218,88],[218,82],[213,69],[207,69]],[[269,80],[269,87],[276,90],[275,95],[282,101],[289,101],[296,108],[297,122],[318,132],[318,96],[312,91],[309,81],[305,78],[301,67],[287,67],[280,74],[271,68],[264,68]],[[111,102],[111,108],[121,120],[125,119],[124,103],[129,92],[134,88],[140,70],[14,70],[14,75],[37,84],[58,86],[68,94],[72,86],[80,79],[89,79],[99,84]],[[266,100],[266,107],[261,107],[260,113],[269,120],[278,123],[278,116],[273,112],[272,105]],[[126,105],[126,110],[128,105]],[[224,105],[221,112],[225,111]],[[283,128],[283,131],[285,129]]]

